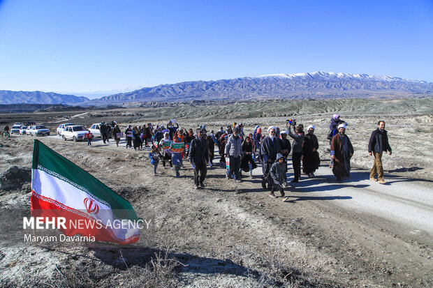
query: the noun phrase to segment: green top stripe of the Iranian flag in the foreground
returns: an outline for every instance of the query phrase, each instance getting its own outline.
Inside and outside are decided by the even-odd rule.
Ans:
[[[117,193],[113,192],[104,183],[85,172],[85,170],[81,169],[73,162],[64,158],[59,153],[52,151],[52,149],[45,146],[45,144],[35,139],[32,168],[38,169],[38,165],[81,186],[81,188],[87,190],[87,192],[96,199],[98,198],[101,199],[102,202],[106,202],[117,218],[138,220],[131,203],[126,199],[117,195]],[[57,178],[61,179],[59,176],[57,176]]]

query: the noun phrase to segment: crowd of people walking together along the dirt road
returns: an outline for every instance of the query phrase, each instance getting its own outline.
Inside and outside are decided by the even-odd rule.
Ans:
[[[351,158],[354,150],[351,140],[346,135],[348,123],[334,114],[330,121],[328,139],[330,140],[330,168],[337,181],[350,176]],[[313,178],[321,159],[318,154],[318,139],[314,132],[315,126],[309,125],[307,133],[302,124],[296,125],[296,121],[288,120],[285,130],[270,126],[263,135],[260,126],[254,128],[254,132],[246,135],[242,123],[233,123],[222,126],[214,133],[209,132],[206,126],[200,126],[194,131],[179,127],[178,123],[169,121],[167,126],[152,126],[147,123],[143,126],[127,126],[122,130],[116,121],[111,126],[101,123],[101,137],[103,143],[115,140],[117,146],[124,137],[126,149],[142,150],[149,147],[149,160],[153,166],[153,174],[156,175],[159,163],[162,168],[166,165],[175,171],[179,177],[184,160],[188,160],[193,168],[194,188],[205,188],[207,166],[214,166],[215,151],[220,156],[219,165],[226,167],[226,179],[235,183],[242,180],[242,172],[253,178],[253,170],[261,165],[261,185],[264,190],[270,190],[270,197],[277,197],[274,192],[278,190],[285,199],[284,188],[288,187],[288,158],[291,154],[293,167],[293,179],[291,183],[301,180],[301,172],[309,178]],[[291,140],[290,140],[291,138]],[[93,135],[88,131],[85,135],[87,145],[91,146]],[[388,134],[385,130],[385,121],[378,122],[378,128],[372,132],[369,139],[368,152],[374,156],[374,165],[369,179],[386,183],[383,179],[382,156],[383,151],[391,155],[392,151],[388,142]],[[376,177],[377,175],[377,177]]]

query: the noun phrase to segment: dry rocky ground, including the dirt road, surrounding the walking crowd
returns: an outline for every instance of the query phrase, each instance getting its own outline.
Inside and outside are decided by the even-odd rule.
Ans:
[[[390,105],[388,109],[394,111],[401,107]],[[214,166],[208,169],[207,187],[193,190],[192,170],[187,163],[180,179],[161,166],[158,175],[153,176],[147,149],[133,151],[125,149],[124,143],[116,147],[99,139],[90,148],[86,143],[64,142],[57,136],[38,137],[128,199],[138,215],[153,215],[154,225],[142,231],[138,245],[132,248],[34,248],[19,243],[8,248],[3,241],[0,284],[432,287],[432,113],[409,108],[394,115],[385,111],[386,116],[350,109],[340,112],[349,124],[347,134],[355,148],[351,178],[342,183],[335,181],[328,168],[325,135],[334,112],[298,112],[298,123],[316,126],[322,165],[315,179],[304,178],[287,188],[288,202],[271,199],[263,191],[260,167],[254,170],[253,179],[235,184],[224,178],[222,167]],[[124,128],[129,123],[147,123],[146,119],[166,124],[173,118],[172,112],[77,112],[80,116],[73,121],[89,126],[120,119]],[[115,115],[117,118],[113,118]],[[61,123],[58,116],[46,113],[30,117],[54,131]],[[179,122],[185,128],[207,123],[209,130],[236,121],[245,123],[246,132],[252,132],[256,124],[282,128],[288,117],[252,116],[230,119],[216,113],[193,119],[185,115]],[[24,117],[29,115],[3,114],[0,121]],[[367,142],[381,118],[387,121],[393,149],[392,156],[383,157],[388,185],[368,180],[372,158],[367,153]],[[0,139],[0,211],[29,209],[33,138],[13,135]],[[292,171],[289,169],[289,179]]]

